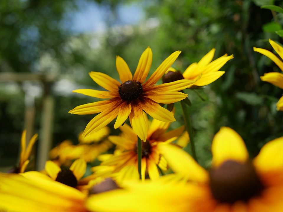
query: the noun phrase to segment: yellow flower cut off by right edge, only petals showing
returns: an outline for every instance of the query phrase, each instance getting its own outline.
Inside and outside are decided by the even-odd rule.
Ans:
[[[269,43],[271,44],[271,46],[273,47],[275,52],[277,52],[277,54],[279,54],[281,59],[283,59],[283,48],[271,39],[269,39]],[[269,57],[273,62],[275,62],[275,64],[281,69],[281,71],[283,71],[282,60],[280,60],[278,57],[276,57],[272,52],[269,52],[266,49],[260,49],[260,48],[256,48],[256,47],[253,47],[253,51],[259,52],[259,53],[265,55],[266,57]],[[269,82],[272,85],[275,85],[275,86],[283,89],[283,74],[282,73],[269,72],[269,73],[265,73],[264,76],[261,76],[260,78],[261,78],[262,81]],[[283,111],[283,96],[277,102],[277,110]]]

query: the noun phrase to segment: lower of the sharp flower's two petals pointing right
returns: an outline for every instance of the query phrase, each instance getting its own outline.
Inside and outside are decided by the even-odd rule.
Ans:
[[[174,102],[179,102],[187,98],[187,94],[182,92],[147,92],[146,97],[152,99],[158,103],[170,104]]]

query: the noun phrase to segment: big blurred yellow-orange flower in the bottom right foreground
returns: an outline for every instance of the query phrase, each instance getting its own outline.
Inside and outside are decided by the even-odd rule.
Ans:
[[[103,194],[93,196],[86,205],[97,212],[282,211],[283,137],[264,145],[250,161],[241,136],[223,127],[212,141],[209,172],[176,146],[164,145],[161,153],[169,166],[186,178],[185,182],[132,182],[127,190],[109,192],[107,198]]]

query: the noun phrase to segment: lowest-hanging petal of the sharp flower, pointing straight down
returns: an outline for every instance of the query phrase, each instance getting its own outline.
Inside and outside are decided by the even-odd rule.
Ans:
[[[132,105],[130,122],[138,137],[140,137],[141,140],[146,141],[148,123],[143,116],[143,108],[140,105]]]

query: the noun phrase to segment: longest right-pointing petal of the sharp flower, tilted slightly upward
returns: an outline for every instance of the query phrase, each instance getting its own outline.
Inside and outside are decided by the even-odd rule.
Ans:
[[[174,82],[163,83],[161,85],[154,85],[145,89],[145,92],[174,92],[184,90],[185,88],[192,87],[195,80],[177,80]]]

